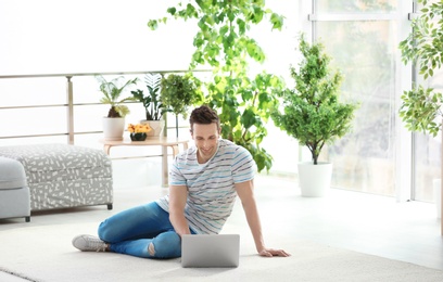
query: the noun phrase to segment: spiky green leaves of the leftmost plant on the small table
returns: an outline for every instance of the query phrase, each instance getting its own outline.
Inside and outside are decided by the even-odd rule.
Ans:
[[[103,98],[100,100],[103,104],[110,104],[111,108],[107,113],[107,117],[125,117],[129,114],[129,108],[122,104],[128,101],[134,101],[134,98],[127,97],[121,99],[122,93],[130,86],[136,85],[138,78],[129,79],[121,86],[123,76],[116,77],[111,81],[107,81],[103,76],[97,75],[96,79],[100,84],[100,91],[103,93]]]

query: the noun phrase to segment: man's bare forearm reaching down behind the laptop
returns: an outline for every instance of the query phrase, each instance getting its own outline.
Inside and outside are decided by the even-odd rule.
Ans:
[[[169,220],[175,231],[181,236],[190,234],[188,220],[185,218],[185,206],[188,197],[186,185],[169,185]]]

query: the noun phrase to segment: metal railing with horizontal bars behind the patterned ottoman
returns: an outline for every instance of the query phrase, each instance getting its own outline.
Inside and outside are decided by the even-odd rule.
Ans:
[[[74,106],[85,106],[85,105],[99,105],[101,103],[74,103],[74,77],[93,77],[96,75],[112,76],[112,75],[144,75],[148,73],[157,73],[162,76],[166,74],[179,74],[188,73],[189,70],[142,70],[142,72],[109,72],[109,73],[69,73],[69,74],[34,74],[34,75],[3,75],[0,76],[0,82],[2,79],[24,79],[24,78],[55,78],[65,77],[66,78],[66,103],[63,104],[40,104],[40,105],[12,105],[12,106],[1,106],[2,110],[20,110],[20,108],[38,108],[38,107],[66,107],[67,113],[67,124],[66,131],[62,133],[41,133],[41,134],[24,134],[24,136],[0,136],[0,139],[14,139],[14,138],[34,138],[34,137],[55,137],[55,136],[66,136],[67,143],[74,144],[76,134],[88,134],[88,133],[100,133],[102,131],[87,131],[80,132],[74,130]],[[206,69],[192,70],[193,73],[207,73]],[[129,102],[130,103],[130,102]],[[166,126],[167,127],[167,126]]]

